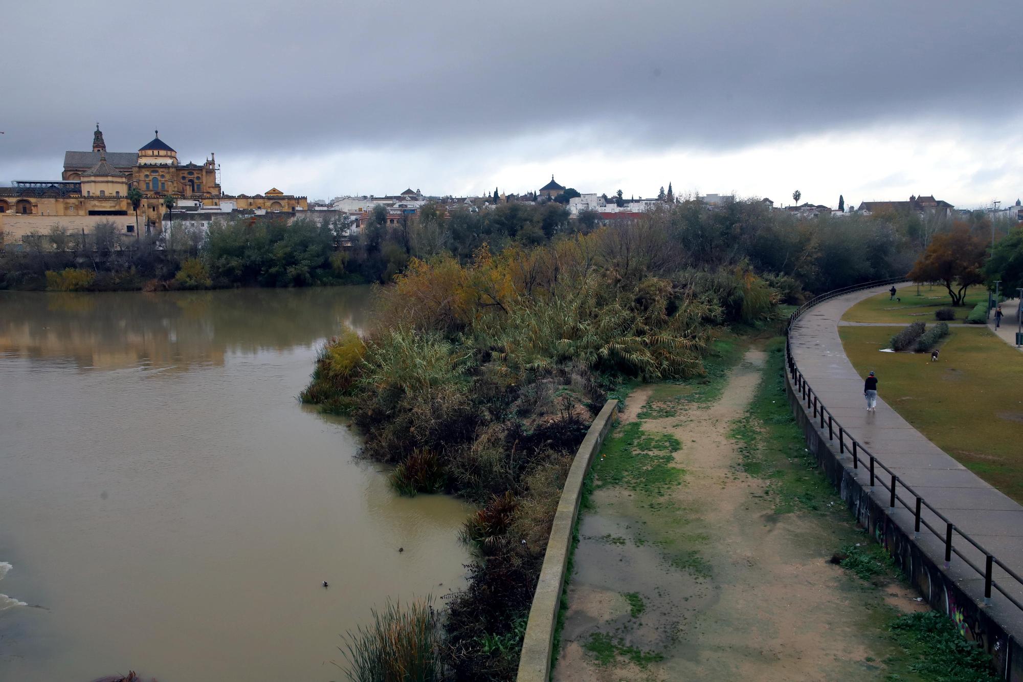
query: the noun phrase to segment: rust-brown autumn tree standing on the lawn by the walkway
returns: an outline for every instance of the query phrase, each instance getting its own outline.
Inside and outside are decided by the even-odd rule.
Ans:
[[[936,235],[927,251],[913,266],[908,278],[914,282],[940,282],[948,290],[952,305],[963,305],[966,289],[984,281],[986,242],[958,222],[951,231]]]

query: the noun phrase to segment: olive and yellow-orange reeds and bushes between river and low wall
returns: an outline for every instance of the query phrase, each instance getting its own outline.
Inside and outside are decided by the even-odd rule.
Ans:
[[[703,374],[714,326],[776,301],[749,268],[687,268],[665,232],[628,225],[414,259],[366,334],[326,344],[303,399],[350,415],[398,489],[480,505],[463,534],[478,560],[447,610],[452,677],[515,676],[561,487],[609,388]]]

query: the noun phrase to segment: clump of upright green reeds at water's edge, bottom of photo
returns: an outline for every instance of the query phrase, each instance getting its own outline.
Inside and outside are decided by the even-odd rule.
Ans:
[[[352,682],[432,682],[442,679],[440,627],[432,599],[405,608],[391,600],[372,623],[345,635],[348,679]],[[341,647],[339,647],[341,648]]]

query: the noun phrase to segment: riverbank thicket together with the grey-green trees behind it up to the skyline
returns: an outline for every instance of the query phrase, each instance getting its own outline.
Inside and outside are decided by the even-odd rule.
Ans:
[[[407,261],[379,280],[391,286],[370,327],[321,349],[302,394],[349,415],[399,492],[479,505],[462,534],[477,559],[440,646],[453,679],[515,677],[561,487],[609,391],[706,376],[723,327],[906,272],[924,248],[908,219],[795,221],[757,202],[606,226],[552,212],[517,225],[519,211],[456,211],[437,240],[383,232]]]

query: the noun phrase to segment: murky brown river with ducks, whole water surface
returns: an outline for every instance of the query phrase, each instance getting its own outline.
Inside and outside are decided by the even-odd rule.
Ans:
[[[0,680],[341,680],[370,608],[463,584],[466,507],[295,398],[368,295],[0,292]]]

